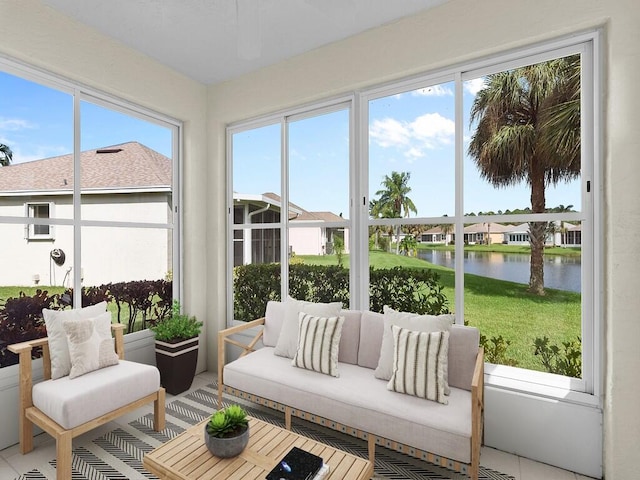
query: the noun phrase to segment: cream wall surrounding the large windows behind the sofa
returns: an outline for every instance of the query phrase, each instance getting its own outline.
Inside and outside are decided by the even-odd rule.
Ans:
[[[635,0],[571,0],[556,2],[540,0],[450,0],[449,2],[395,22],[373,29],[345,41],[337,42],[313,52],[290,59],[279,65],[209,89],[209,151],[220,160],[224,158],[224,126],[260,114],[278,111],[317,99],[338,95],[353,89],[381,83],[407,75],[430,71],[458,62],[479,59],[528,46],[537,42],[571,35],[587,29],[603,29],[604,47],[604,181],[605,197],[603,253],[605,254],[605,287],[603,312],[598,329],[602,330],[603,358],[598,362],[604,373],[604,436],[583,442],[584,435],[599,430],[600,416],[593,410],[555,407],[551,402],[513,399],[512,405],[522,405],[511,412],[517,415],[535,414],[538,422],[527,422],[527,429],[537,429],[534,435],[524,429],[514,438],[504,435],[505,443],[516,441],[513,448],[527,449],[524,437],[545,438],[537,450],[529,448],[531,456],[542,455],[549,462],[558,462],[557,452],[564,458],[598,456],[603,445],[604,472],[607,479],[627,479],[637,476],[635,446],[640,444],[640,417],[637,398],[640,396],[640,355],[637,339],[637,271],[640,253],[636,237],[640,230],[637,215],[640,198],[636,194],[640,166],[637,156],[640,137],[635,133],[635,112],[640,107],[637,78],[640,75],[640,43],[635,38],[640,25],[640,7]],[[209,182],[218,188],[209,190],[209,203],[224,201],[225,170],[222,161],[209,171]],[[224,285],[225,273],[218,267],[224,257],[225,215],[222,210],[212,212],[209,232],[211,245],[208,273],[211,281]],[[635,252],[635,253],[634,253]],[[217,257],[217,258],[216,258]],[[224,316],[219,318],[219,326]],[[209,357],[210,362],[213,358]],[[509,393],[492,390],[498,395],[496,405],[508,400]],[[537,405],[537,406],[536,406]],[[562,408],[562,415],[557,414]],[[571,415],[569,413],[571,412]],[[586,413],[585,413],[586,412]],[[555,413],[546,415],[546,413]],[[498,418],[496,418],[498,416]],[[487,428],[500,436],[499,411],[490,409]],[[563,432],[554,442],[552,422],[567,419]],[[571,429],[576,421],[593,424]],[[588,427],[588,428],[587,428]],[[546,430],[546,434],[545,434]],[[495,441],[495,438],[494,438]],[[513,443],[512,443],[513,445]],[[584,446],[583,446],[584,445]],[[584,450],[581,450],[584,449]],[[554,453],[555,450],[555,453]],[[594,451],[595,450],[595,451]],[[544,461],[544,459],[543,459]],[[561,460],[562,461],[562,460]],[[586,463],[590,460],[585,458]],[[599,463],[600,458],[596,460]],[[591,462],[589,468],[593,468]]]

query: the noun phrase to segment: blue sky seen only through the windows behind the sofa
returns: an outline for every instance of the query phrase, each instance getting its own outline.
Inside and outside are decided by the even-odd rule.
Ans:
[[[464,151],[473,134],[469,109],[482,79],[464,85]],[[409,197],[417,215],[455,214],[455,99],[447,83],[372,100],[369,103],[369,198],[383,188],[391,172],[409,172]],[[346,110],[291,122],[290,200],[309,211],[348,212],[348,114]],[[234,191],[281,193],[280,127],[240,132],[233,138]],[[480,178],[473,161],[464,160],[464,212],[530,207],[526,184],[500,188]],[[255,172],[259,171],[260,175]],[[580,182],[547,189],[547,207],[580,208]],[[412,214],[412,217],[416,215]]]

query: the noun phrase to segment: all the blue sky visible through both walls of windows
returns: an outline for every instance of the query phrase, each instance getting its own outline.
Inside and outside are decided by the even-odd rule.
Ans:
[[[472,136],[469,108],[482,79],[464,85],[464,150]],[[369,103],[369,196],[375,198],[391,172],[409,172],[409,197],[418,216],[455,213],[454,85],[445,83]],[[0,143],[13,163],[68,154],[73,146],[71,95],[0,72]],[[233,189],[282,194],[280,126],[233,137]],[[349,216],[349,115],[341,109],[289,123],[290,200],[308,211]],[[171,156],[171,132],[114,110],[81,103],[81,149],[138,141]],[[526,185],[496,189],[479,177],[465,155],[464,212],[530,206]],[[579,181],[547,190],[547,207],[580,207]],[[414,214],[411,215],[415,216]]]

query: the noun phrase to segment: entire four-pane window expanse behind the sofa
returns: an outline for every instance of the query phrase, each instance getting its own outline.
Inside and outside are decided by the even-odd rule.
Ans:
[[[234,299],[250,282],[259,289],[269,279],[277,291],[261,291],[262,311],[246,318],[236,301],[230,320],[256,318],[268,299],[287,294],[327,301],[309,280],[318,275],[311,266],[324,266],[334,268],[325,283],[334,298],[350,298],[345,306],[396,302],[478,327],[492,382],[598,393],[593,41],[354,94],[360,129],[346,126],[347,110],[323,107],[274,117],[269,141],[266,127],[230,128],[230,265],[274,262],[253,276],[230,274]],[[257,163],[266,152],[270,168]],[[245,190],[254,203],[240,208],[237,185],[266,178],[282,182],[280,193]],[[251,209],[260,224],[243,213]],[[276,243],[280,256],[258,254]],[[413,289],[398,295],[394,282]]]

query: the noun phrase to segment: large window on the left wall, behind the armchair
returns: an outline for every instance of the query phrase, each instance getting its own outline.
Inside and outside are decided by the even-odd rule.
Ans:
[[[179,123],[8,60],[0,91],[0,363],[42,330],[7,302],[107,300],[114,321],[145,328],[179,295]]]

